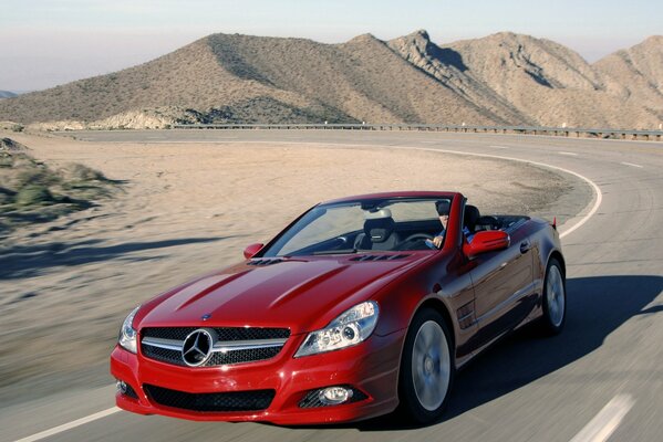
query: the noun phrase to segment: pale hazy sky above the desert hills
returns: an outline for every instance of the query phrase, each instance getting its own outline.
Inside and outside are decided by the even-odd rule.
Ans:
[[[438,44],[501,31],[529,34],[594,62],[663,34],[663,1],[0,0],[0,90],[107,74],[217,32],[341,43],[418,29]]]

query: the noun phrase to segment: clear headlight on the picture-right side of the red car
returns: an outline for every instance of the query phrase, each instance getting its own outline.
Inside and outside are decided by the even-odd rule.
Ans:
[[[338,350],[365,340],[377,324],[377,304],[366,301],[350,308],[325,328],[312,332],[297,350],[296,358]]]

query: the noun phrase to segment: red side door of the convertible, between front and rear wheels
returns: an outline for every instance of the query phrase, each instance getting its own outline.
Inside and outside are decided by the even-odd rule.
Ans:
[[[506,250],[475,257],[470,272],[478,326],[475,348],[518,325],[533,308],[532,256],[532,244],[520,230],[512,233]]]

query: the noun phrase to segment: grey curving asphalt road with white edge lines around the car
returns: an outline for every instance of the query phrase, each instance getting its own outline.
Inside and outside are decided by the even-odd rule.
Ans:
[[[521,332],[488,350],[460,372],[446,419],[437,424],[411,429],[383,418],[302,429],[139,417],[113,410],[114,387],[108,386],[1,409],[0,440],[50,429],[54,434],[43,440],[663,440],[663,144],[331,130],[74,135],[107,141],[289,141],[441,149],[546,164],[578,173],[595,188],[588,182],[588,191],[594,189],[593,200],[560,229],[568,262],[564,332],[547,339]],[[97,412],[103,417],[94,415]],[[81,418],[91,421],[76,421]],[[75,427],[58,428],[61,424]]]

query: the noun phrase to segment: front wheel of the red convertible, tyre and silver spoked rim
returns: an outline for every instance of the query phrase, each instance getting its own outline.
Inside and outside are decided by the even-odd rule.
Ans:
[[[427,424],[438,420],[454,385],[453,339],[443,316],[418,312],[405,337],[398,377],[400,414]]]

